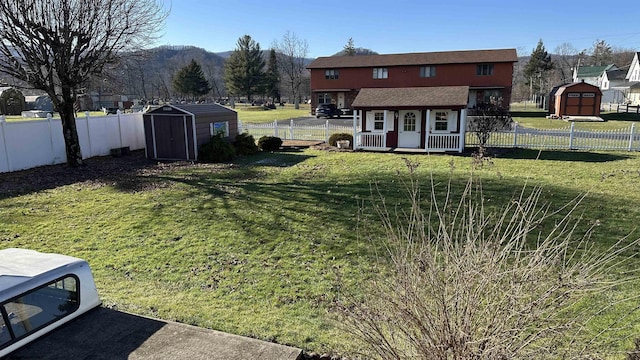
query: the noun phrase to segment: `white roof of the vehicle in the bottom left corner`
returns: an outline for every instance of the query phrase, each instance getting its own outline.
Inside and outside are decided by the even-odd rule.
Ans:
[[[0,301],[2,293],[12,287],[26,283],[32,278],[67,267],[84,263],[72,256],[41,253],[27,249],[0,250]]]

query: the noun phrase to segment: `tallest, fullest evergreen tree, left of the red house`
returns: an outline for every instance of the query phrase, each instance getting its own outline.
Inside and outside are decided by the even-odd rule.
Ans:
[[[262,94],[265,84],[264,66],[260,44],[249,35],[239,38],[224,69],[224,81],[229,93],[246,96],[249,101],[253,95]]]

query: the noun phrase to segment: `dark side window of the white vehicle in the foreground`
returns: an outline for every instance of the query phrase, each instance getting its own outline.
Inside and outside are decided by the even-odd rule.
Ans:
[[[78,309],[78,281],[67,276],[4,304],[16,338]],[[1,342],[0,342],[1,343]]]

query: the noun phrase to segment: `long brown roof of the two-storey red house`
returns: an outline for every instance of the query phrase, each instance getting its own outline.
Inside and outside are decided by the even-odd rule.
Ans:
[[[515,49],[319,57],[307,69],[516,62]]]

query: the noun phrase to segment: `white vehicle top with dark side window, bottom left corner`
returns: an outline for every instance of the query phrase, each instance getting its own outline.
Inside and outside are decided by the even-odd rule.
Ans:
[[[0,250],[0,357],[99,305],[86,261]]]

